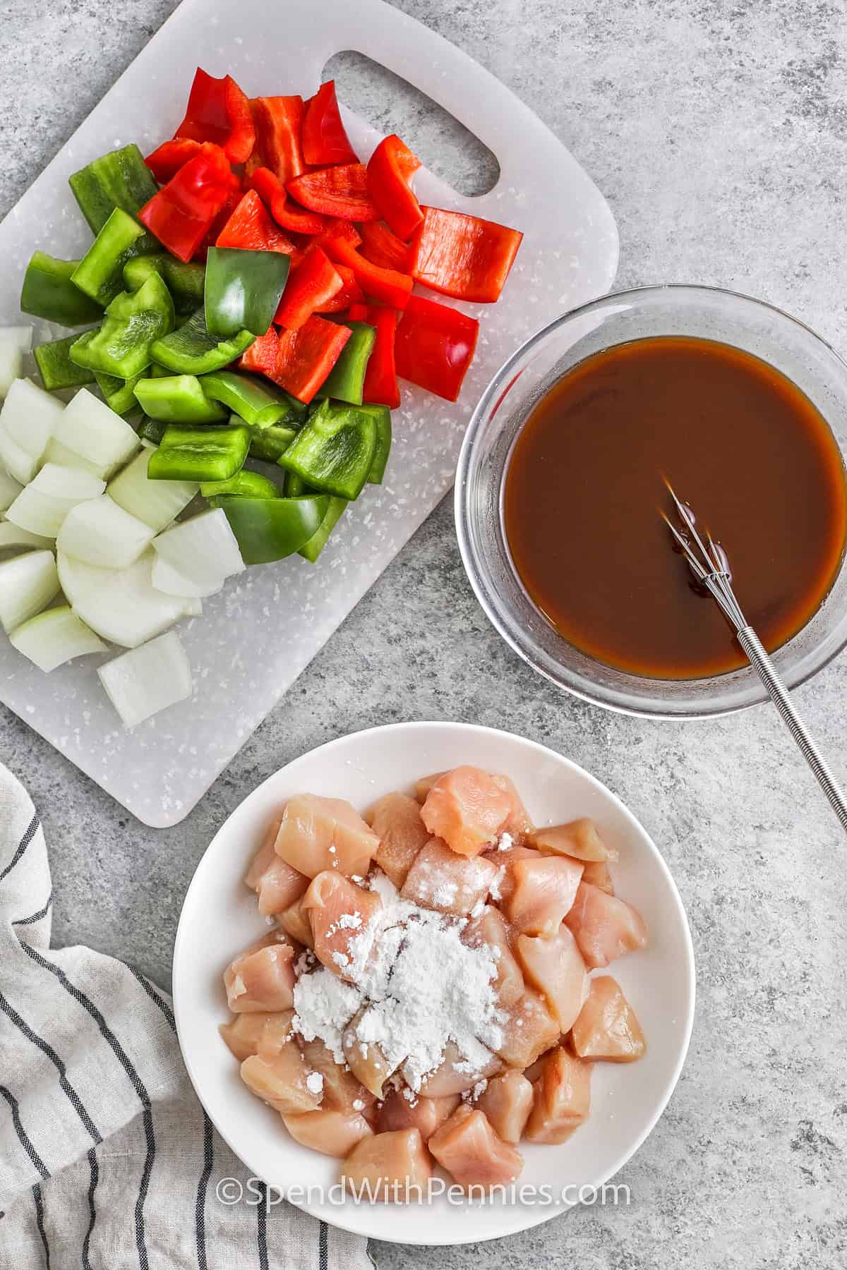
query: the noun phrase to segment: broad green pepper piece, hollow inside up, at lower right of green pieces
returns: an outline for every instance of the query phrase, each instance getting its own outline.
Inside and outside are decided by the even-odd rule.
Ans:
[[[321,401],[283,455],[279,466],[312,489],[358,498],[376,453],[376,419],[367,410]]]

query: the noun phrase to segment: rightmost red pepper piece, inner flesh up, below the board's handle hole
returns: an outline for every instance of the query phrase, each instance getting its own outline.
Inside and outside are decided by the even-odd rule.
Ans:
[[[424,207],[411,240],[411,276],[457,300],[499,300],[523,234],[464,212]]]

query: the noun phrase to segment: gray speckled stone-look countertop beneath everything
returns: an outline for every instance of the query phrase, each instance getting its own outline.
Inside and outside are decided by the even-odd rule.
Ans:
[[[8,0],[0,24],[5,212],[171,10],[171,0]],[[847,351],[847,8],[843,0],[403,0],[513,88],[610,199],[618,286],[697,281],[789,309]],[[439,123],[354,57],[344,95]],[[376,103],[381,108],[376,109]],[[376,114],[378,113],[378,118]],[[409,122],[411,121],[411,123]],[[417,132],[411,131],[411,127]],[[444,175],[479,188],[448,147]],[[847,775],[842,658],[799,692]],[[645,723],[560,696],[499,641],[465,580],[446,502],[188,819],[147,829],[0,710],[0,753],[52,852],[55,940],[130,959],[166,986],[183,893],[222,819],[290,758],[397,719],[533,737],[640,817],[688,908],[698,1008],[670,1106],[618,1180],[629,1208],[585,1208],[495,1245],[375,1245],[380,1270],[530,1266],[827,1270],[847,1264],[844,843],[772,711]]]

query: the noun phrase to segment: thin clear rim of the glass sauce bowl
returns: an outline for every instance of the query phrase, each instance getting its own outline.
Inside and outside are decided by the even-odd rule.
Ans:
[[[470,542],[470,516],[466,511],[466,490],[467,490],[467,472],[471,461],[471,452],[474,450],[474,443],[476,441],[480,424],[489,411],[489,406],[495,399],[497,394],[504,391],[504,384],[508,382],[514,367],[518,362],[524,358],[536,345],[541,344],[549,335],[559,330],[560,326],[578,319],[585,314],[590,314],[592,310],[603,307],[616,301],[640,297],[645,300],[648,296],[662,296],[663,293],[670,292],[688,292],[691,295],[704,295],[704,296],[726,296],[730,300],[742,300],[745,304],[756,305],[767,312],[776,314],[784,318],[792,326],[799,328],[810,335],[818,344],[827,349],[832,357],[841,363],[844,375],[847,375],[847,359],[838,353],[836,348],[824,339],[823,335],[813,330],[806,323],[800,318],[795,318],[792,314],[781,309],[778,305],[771,304],[768,300],[762,300],[758,296],[747,295],[743,291],[734,291],[731,287],[717,287],[710,283],[700,282],[659,282],[659,283],[644,283],[637,287],[625,287],[620,291],[607,291],[602,296],[596,296],[593,300],[585,301],[585,304],[578,305],[575,309],[568,309],[565,312],[554,318],[552,321],[546,323],[540,326],[532,335],[530,335],[509,358],[499,367],[495,375],[491,377],[486,385],[483,395],[480,396],[471,418],[465,429],[465,436],[462,438],[461,450],[458,452],[458,460],[456,464],[456,483],[453,486],[453,521],[456,526],[456,537],[458,541],[458,552],[461,555],[462,566],[467,580],[471,584],[474,594],[483,608],[483,612],[490,621],[490,624],[497,630],[498,635],[509,645],[509,648],[518,654],[518,657],[531,667],[536,674],[547,679],[550,683],[555,685],[561,692],[568,692],[570,696],[579,698],[580,701],[587,701],[589,705],[601,706],[603,710],[610,710],[613,714],[629,715],[636,719],[659,719],[667,721],[679,721],[679,720],[705,720],[705,719],[724,719],[729,715],[738,714],[742,710],[752,710],[756,706],[767,705],[768,695],[763,685],[752,686],[750,697],[744,701],[734,702],[729,706],[720,709],[683,709],[683,710],[662,710],[653,709],[650,706],[631,705],[621,701],[608,700],[602,691],[593,692],[583,686],[577,686],[573,683],[565,683],[550,671],[538,665],[532,655],[521,645],[518,639],[516,639],[507,626],[507,624],[500,618],[497,608],[489,602],[485,588],[481,585],[480,570],[477,568],[476,558]],[[842,450],[842,447],[838,447]],[[844,455],[844,461],[847,462],[847,455]],[[800,634],[800,632],[797,632]],[[842,641],[832,649],[823,660],[801,674],[784,674],[786,679],[786,686],[794,691],[808,683],[817,674],[824,671],[837,657],[843,653],[847,648],[847,629],[844,631],[844,638]],[[646,676],[643,676],[645,682],[650,682]],[[719,676],[720,678],[720,676]],[[655,683],[662,683],[667,681],[655,679]],[[677,682],[677,681],[674,681]],[[697,682],[697,681],[682,681],[682,682]]]

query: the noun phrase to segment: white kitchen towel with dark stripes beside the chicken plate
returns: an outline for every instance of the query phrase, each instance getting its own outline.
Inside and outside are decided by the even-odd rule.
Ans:
[[[0,765],[0,1267],[371,1270],[364,1240],[260,1201],[194,1097],[165,994],[51,949],[51,913],[38,817]],[[226,1179],[241,1203],[218,1198]]]

